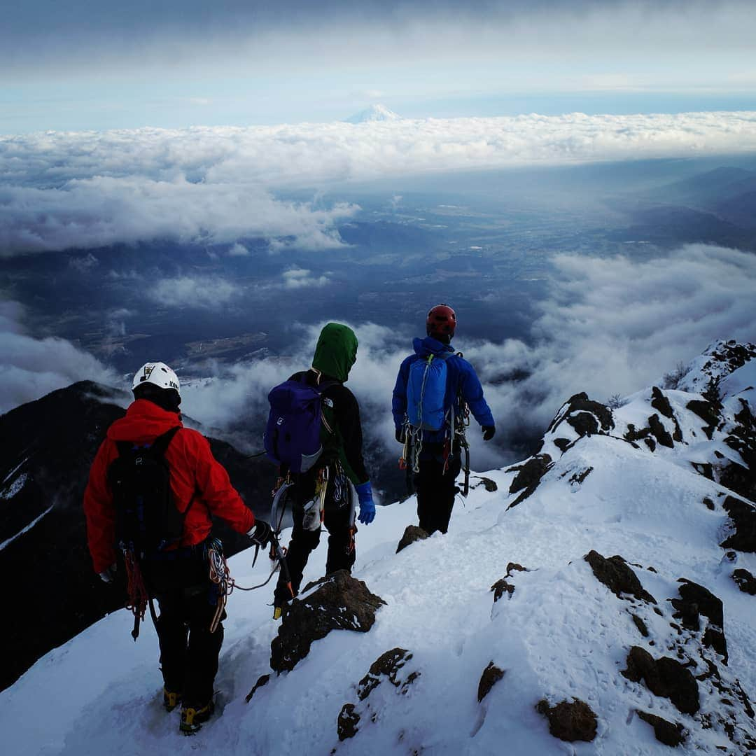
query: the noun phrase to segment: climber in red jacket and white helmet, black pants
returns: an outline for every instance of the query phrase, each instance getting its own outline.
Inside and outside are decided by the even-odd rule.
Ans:
[[[129,462],[125,468],[113,463],[119,457],[133,463],[133,450],[139,448],[165,447],[159,465],[153,468],[160,470],[162,465],[165,471],[167,465],[167,472],[162,474],[169,484],[165,484],[163,498],[170,502],[167,508],[175,509],[170,514],[178,518],[178,537],[167,544],[161,542],[159,548],[141,550],[138,565],[148,593],[160,605],[156,630],[165,683],[163,703],[172,711],[181,702],[181,730],[191,733],[212,714],[213,680],[223,642],[222,624],[210,630],[218,606],[217,586],[210,581],[207,557],[210,515],[222,517],[234,530],[263,547],[271,530],[268,523],[256,521],[246,507],[228,472],[212,456],[207,439],[184,428],[178,409],[180,390],[178,377],[162,362],[148,362],[136,373],[132,386],[135,401],[125,417],[110,426],[92,463],[84,512],[95,572],[110,582],[116,572],[116,541],[121,539],[119,548],[124,553],[127,550],[119,533],[123,528],[119,498],[122,478],[129,475],[123,470],[134,469],[129,468]],[[116,478],[113,469],[119,470]],[[157,474],[160,476],[160,472]],[[125,488],[134,490],[133,485]]]

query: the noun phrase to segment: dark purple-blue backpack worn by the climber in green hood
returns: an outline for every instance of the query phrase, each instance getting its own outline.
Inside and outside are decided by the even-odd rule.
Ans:
[[[268,394],[271,410],[263,443],[268,459],[289,472],[307,472],[323,452],[321,393],[333,381],[308,386],[305,379],[287,380]]]

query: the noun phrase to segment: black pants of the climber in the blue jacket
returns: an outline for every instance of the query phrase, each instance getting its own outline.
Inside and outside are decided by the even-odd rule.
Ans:
[[[460,490],[456,480],[462,469],[462,458],[455,449],[444,472],[443,445],[426,444],[420,453],[418,467],[420,472],[415,473],[413,480],[419,525],[428,534],[437,530],[445,533],[454,509],[454,497]]]

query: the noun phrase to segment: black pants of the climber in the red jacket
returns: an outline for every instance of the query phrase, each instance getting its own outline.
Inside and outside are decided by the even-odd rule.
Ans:
[[[212,698],[223,643],[222,624],[210,632],[218,593],[209,579],[207,559],[198,551],[152,562],[148,575],[160,605],[156,629],[163,682],[167,690],[181,692],[184,705],[200,708]]]

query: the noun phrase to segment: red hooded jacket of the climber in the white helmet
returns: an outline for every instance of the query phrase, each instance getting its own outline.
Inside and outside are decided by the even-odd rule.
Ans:
[[[207,439],[196,430],[184,428],[175,412],[161,409],[147,399],[137,399],[107,430],[89,471],[84,492],[87,540],[95,572],[104,572],[116,561],[113,495],[107,482],[107,469],[118,457],[118,441],[149,444],[167,430],[181,426],[166,451],[171,470],[171,489],[178,510],[184,512],[197,493],[184,519],[184,536],[178,546],[193,546],[210,533],[209,512],[225,519],[234,530],[246,533],[255,516],[231,485],[228,472],[215,460]]]

